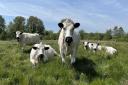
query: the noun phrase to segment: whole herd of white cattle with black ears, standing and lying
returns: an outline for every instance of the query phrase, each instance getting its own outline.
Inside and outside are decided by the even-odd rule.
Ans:
[[[75,63],[78,46],[80,44],[80,35],[75,31],[75,29],[80,26],[80,23],[74,23],[71,19],[66,18],[61,20],[61,22],[58,23],[58,26],[61,29],[58,38],[60,54],[58,54],[50,45],[42,43],[39,34],[16,31],[16,38],[22,46],[22,49],[27,44],[33,44],[30,52],[30,62],[32,65],[35,66],[41,61],[45,62],[54,55],[60,56],[63,63],[65,63],[65,56],[70,55],[71,64]],[[111,55],[117,52],[113,47],[103,46],[99,45],[99,43],[91,43],[87,41],[83,42],[83,47],[84,49],[89,49],[92,52],[105,49],[105,52]]]

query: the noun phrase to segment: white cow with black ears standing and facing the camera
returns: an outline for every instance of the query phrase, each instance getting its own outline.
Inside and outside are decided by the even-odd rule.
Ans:
[[[74,23],[71,19],[63,19],[58,23],[58,26],[61,28],[58,45],[62,62],[65,63],[64,57],[70,55],[71,64],[73,64],[76,60],[80,42],[80,35],[78,32],[75,32],[75,29],[80,26],[80,23]]]

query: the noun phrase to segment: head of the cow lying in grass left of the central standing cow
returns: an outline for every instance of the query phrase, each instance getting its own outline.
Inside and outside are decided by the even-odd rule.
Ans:
[[[49,47],[46,47],[44,46],[42,43],[40,44],[35,44],[33,47],[32,47],[32,50],[36,56],[36,58],[39,60],[39,61],[43,61],[43,58],[46,56],[45,55],[45,51],[48,50]]]

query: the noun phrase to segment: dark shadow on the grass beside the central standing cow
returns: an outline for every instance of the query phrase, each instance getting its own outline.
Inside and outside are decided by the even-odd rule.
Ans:
[[[100,75],[95,70],[96,64],[87,58],[76,59],[73,64],[74,69],[79,73],[84,73],[89,81],[92,81],[95,77],[100,77]]]

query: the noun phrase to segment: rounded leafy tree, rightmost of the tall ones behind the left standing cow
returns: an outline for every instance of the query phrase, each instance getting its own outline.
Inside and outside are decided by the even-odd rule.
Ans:
[[[37,17],[30,16],[27,19],[27,31],[31,33],[40,33],[43,34],[44,32],[44,24],[42,20]]]

